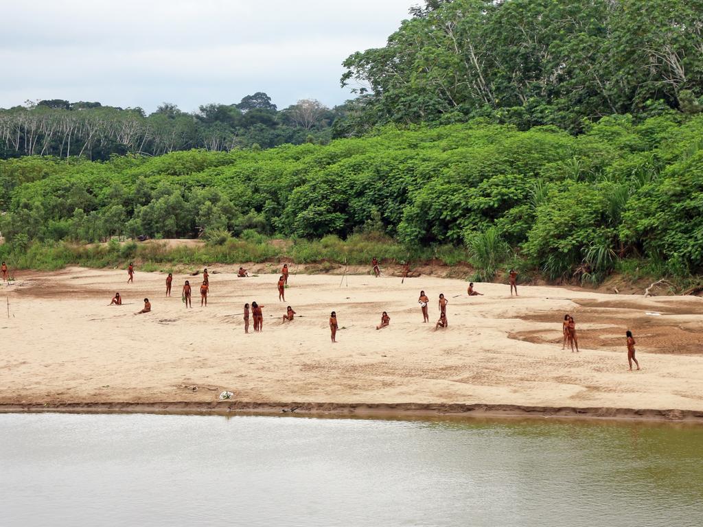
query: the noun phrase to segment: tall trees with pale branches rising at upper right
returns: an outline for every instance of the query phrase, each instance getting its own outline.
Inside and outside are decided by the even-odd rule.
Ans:
[[[688,0],[427,0],[382,48],[344,60],[363,86],[337,136],[482,117],[572,132],[603,115],[700,112],[703,15]],[[343,134],[343,135],[342,135]]]

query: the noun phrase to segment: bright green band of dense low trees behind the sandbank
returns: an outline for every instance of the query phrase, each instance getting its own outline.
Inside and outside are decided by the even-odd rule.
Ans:
[[[373,231],[408,247],[466,244],[489,274],[511,249],[550,278],[595,280],[628,259],[703,268],[703,115],[681,112],[604,117],[576,137],[480,121],[388,126],[262,151],[23,157],[0,161],[0,174],[9,245]]]

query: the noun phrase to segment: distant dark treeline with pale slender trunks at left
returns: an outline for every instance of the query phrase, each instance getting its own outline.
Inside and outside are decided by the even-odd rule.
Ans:
[[[0,158],[22,155],[86,157],[162,155],[205,148],[272,148],[305,142],[327,143],[344,105],[330,110],[318,100],[299,100],[278,110],[263,92],[236,104],[201,105],[182,112],[163,103],[146,115],[141,108],[115,108],[101,103],[52,99],[0,109]]]

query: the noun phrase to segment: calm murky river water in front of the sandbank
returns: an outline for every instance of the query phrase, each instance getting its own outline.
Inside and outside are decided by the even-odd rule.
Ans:
[[[703,526],[703,427],[0,415],[1,526]]]

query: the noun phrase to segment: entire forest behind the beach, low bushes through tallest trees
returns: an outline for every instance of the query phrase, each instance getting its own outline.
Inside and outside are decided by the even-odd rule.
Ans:
[[[0,112],[0,256],[115,235],[367,237],[460,249],[484,279],[695,275],[702,30],[703,0],[428,0],[347,58],[358,97],[333,110],[256,93],[193,115]],[[51,137],[13,129],[27,115],[55,119]]]

